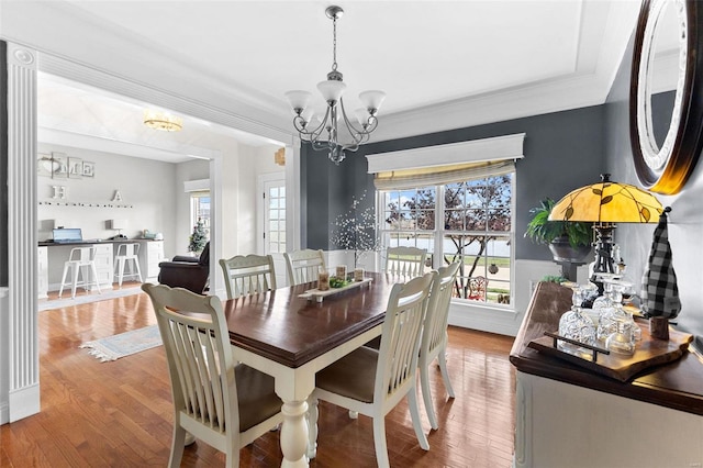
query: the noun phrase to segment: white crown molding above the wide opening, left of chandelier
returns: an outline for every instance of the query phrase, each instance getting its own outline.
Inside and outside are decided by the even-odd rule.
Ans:
[[[20,10],[13,14],[14,7]],[[11,21],[1,22],[0,37],[37,51],[40,71],[277,143],[292,141],[290,121],[278,101],[205,75],[69,3],[3,2],[2,12]]]

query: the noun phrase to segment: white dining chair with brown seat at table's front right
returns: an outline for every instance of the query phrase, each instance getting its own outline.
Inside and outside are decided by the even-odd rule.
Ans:
[[[309,455],[314,456],[319,400],[324,400],[373,419],[376,460],[379,467],[388,467],[386,414],[405,395],[420,446],[429,449],[417,404],[416,370],[429,288],[436,275],[428,272],[393,286],[381,325],[380,350],[361,346],[316,374],[309,400]]]

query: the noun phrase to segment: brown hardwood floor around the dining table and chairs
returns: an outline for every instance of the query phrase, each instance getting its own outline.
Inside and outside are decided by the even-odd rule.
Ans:
[[[163,347],[100,363],[78,346],[156,320],[144,293],[40,312],[40,414],[0,426],[0,467],[166,466],[171,439],[170,383]],[[513,338],[450,327],[449,400],[433,365],[438,431],[429,452],[417,445],[406,402],[388,414],[393,467],[510,467],[515,372]],[[424,414],[424,410],[423,414]],[[424,427],[429,423],[423,416]],[[311,467],[373,467],[371,420],[320,404],[317,458]],[[278,467],[279,434],[242,449],[241,466]],[[204,443],[186,448],[182,466],[217,467],[224,455]]]

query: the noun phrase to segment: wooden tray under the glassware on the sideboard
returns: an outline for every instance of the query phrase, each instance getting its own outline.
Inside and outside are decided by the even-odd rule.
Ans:
[[[649,334],[648,326],[641,326],[641,341],[635,346],[633,356],[624,356],[615,353],[599,354],[595,361],[592,358],[583,358],[556,347],[556,341],[551,336],[535,338],[527,345],[539,353],[555,356],[593,372],[625,382],[640,371],[660,364],[671,363],[683,356],[688,350],[693,335],[669,330],[669,339],[656,339]]]

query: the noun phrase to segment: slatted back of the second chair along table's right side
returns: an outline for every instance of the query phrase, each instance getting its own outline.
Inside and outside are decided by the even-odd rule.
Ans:
[[[422,332],[421,353],[429,354],[446,342],[451,291],[458,270],[458,261],[442,267],[432,283],[425,326]]]

